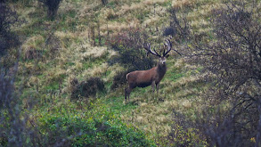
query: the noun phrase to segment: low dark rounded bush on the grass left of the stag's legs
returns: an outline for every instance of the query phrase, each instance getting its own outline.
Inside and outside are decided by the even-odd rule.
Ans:
[[[89,78],[86,81],[83,81],[77,84],[76,79],[72,81],[75,86],[71,93],[71,99],[79,99],[80,97],[89,97],[94,96],[99,91],[104,91],[104,82],[101,78]]]

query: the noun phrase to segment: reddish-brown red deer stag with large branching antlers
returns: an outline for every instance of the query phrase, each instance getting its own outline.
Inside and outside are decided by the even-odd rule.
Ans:
[[[155,91],[155,86],[156,86],[157,94],[159,94],[159,82],[164,77],[167,71],[166,58],[169,55],[167,53],[169,53],[172,49],[172,44],[168,39],[166,39],[165,45],[167,46],[167,52],[165,52],[164,49],[162,55],[157,53],[155,49],[153,49],[152,51],[150,44],[144,45],[144,49],[147,51],[147,55],[149,53],[156,55],[157,57],[159,57],[159,61],[157,66],[152,69],[136,70],[126,74],[128,87],[125,89],[125,102],[126,102],[126,97],[128,97],[128,101],[129,101],[129,95],[136,86],[138,87],[151,86],[153,93]],[[176,50],[175,52],[178,53]]]

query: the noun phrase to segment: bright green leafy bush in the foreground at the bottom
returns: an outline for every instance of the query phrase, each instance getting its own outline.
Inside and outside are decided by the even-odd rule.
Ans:
[[[91,103],[92,105],[92,103]],[[70,112],[69,112],[70,111]],[[80,113],[65,108],[39,119],[43,145],[65,146],[156,146],[142,131],[122,123],[104,106]]]

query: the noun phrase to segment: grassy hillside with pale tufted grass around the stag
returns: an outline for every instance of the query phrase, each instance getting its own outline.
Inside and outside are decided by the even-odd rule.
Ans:
[[[9,4],[25,20],[14,29],[22,42],[16,82],[23,87],[22,113],[28,114],[27,125],[40,130],[38,137],[46,143],[208,146],[198,129],[182,126],[184,121],[195,123],[206,105],[200,94],[209,84],[202,68],[171,52],[159,94],[153,94],[151,86],[136,88],[125,103],[126,84],[110,89],[114,77],[126,66],[110,64],[118,53],[108,40],[137,28],[148,32],[151,45],[156,45],[169,27],[168,10],[175,8],[178,19],[186,18],[193,36],[208,42],[210,16],[214,8],[223,7],[220,0],[109,0],[106,5],[94,0],[63,0],[54,20],[37,1]],[[173,46],[186,52],[184,45],[191,43],[178,39],[171,38]],[[80,84],[89,78],[104,81],[105,90],[72,99],[73,81]],[[5,143],[1,136],[0,143]]]

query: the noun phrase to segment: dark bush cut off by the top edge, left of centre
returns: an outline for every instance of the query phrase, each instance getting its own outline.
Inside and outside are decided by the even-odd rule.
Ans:
[[[47,7],[47,15],[50,19],[54,19],[56,16],[61,1],[62,0],[39,0],[39,2],[45,4]]]

